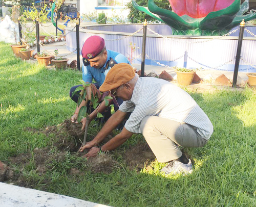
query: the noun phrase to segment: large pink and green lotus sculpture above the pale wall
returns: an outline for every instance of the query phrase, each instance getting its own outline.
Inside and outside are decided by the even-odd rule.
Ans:
[[[256,13],[243,15],[249,9],[249,0],[168,0],[173,11],[161,9],[154,0],[148,7],[135,9],[158,19],[173,29],[173,35],[223,35],[245,21],[256,18]]]

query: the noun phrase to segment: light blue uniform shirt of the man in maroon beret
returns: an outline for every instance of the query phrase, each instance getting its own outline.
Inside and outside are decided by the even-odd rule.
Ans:
[[[109,49],[107,49],[106,51],[108,51],[108,58],[106,59],[105,64],[101,68],[91,67],[90,64],[87,66],[82,65],[82,80],[84,82],[92,83],[92,79],[94,78],[96,83],[98,83],[99,86],[101,86],[105,80],[106,74],[111,69],[110,66],[108,66],[108,68],[105,68],[106,64],[109,62],[111,58],[114,59],[117,63],[130,64],[129,60],[122,54]]]

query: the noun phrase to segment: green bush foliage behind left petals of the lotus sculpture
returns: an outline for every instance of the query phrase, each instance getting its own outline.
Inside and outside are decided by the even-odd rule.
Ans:
[[[148,2],[148,0],[137,0],[136,1],[136,3],[142,7],[147,7],[147,2]],[[169,4],[168,0],[155,0],[154,2],[158,7],[162,8],[162,9],[169,9],[170,4]],[[128,18],[131,18],[132,15],[134,15],[134,23],[141,23],[145,19],[147,20],[147,22],[159,22],[157,19],[151,17],[150,15],[147,15],[144,12],[140,12],[140,11],[136,10],[133,7],[132,1],[126,5],[126,8],[130,10],[130,14],[128,15]]]

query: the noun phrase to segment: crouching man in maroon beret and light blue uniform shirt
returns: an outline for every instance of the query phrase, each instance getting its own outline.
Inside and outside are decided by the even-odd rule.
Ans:
[[[95,80],[95,86],[99,88],[104,80],[106,74],[110,71],[110,69],[118,63],[129,63],[129,60],[120,53],[116,51],[109,50],[105,48],[105,41],[103,38],[99,36],[91,36],[89,37],[83,44],[82,47],[82,57],[83,57],[83,65],[82,65],[82,80],[84,82],[92,83],[93,79]],[[78,85],[81,86],[81,85]],[[74,86],[70,89],[70,97],[76,103],[78,101],[78,96],[73,96],[72,93],[78,86]],[[118,104],[122,103],[122,99],[117,99]],[[74,115],[71,117],[72,122],[76,122],[78,117],[78,112],[82,106],[84,106],[85,102],[83,101],[79,107],[76,108]],[[115,106],[115,111],[118,110],[118,106]],[[106,110],[104,105],[98,109],[98,112],[103,113]],[[94,116],[95,115],[95,116]],[[96,117],[96,113],[92,112],[92,119]],[[103,122],[106,121],[111,116],[110,110],[108,112],[103,113]],[[91,120],[92,120],[91,119]],[[82,130],[86,125],[86,118],[81,120]]]

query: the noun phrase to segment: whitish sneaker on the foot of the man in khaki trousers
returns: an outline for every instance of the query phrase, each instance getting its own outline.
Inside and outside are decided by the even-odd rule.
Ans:
[[[193,166],[191,163],[191,160],[187,164],[183,164],[178,161],[172,161],[168,163],[165,167],[162,168],[161,172],[164,172],[165,174],[172,174],[176,175],[178,173],[183,173],[184,175],[186,174],[191,174],[193,172]]]

